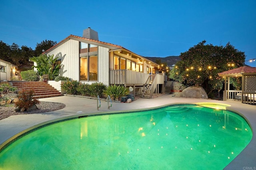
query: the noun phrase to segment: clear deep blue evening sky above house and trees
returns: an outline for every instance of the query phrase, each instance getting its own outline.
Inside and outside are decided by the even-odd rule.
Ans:
[[[91,27],[100,41],[148,57],[178,56],[206,40],[256,58],[256,0],[2,0],[0,40],[35,49]],[[250,63],[256,67],[256,61]]]

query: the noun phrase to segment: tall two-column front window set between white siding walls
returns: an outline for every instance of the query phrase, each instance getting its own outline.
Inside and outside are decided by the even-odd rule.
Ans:
[[[80,81],[98,80],[98,46],[80,42]]]

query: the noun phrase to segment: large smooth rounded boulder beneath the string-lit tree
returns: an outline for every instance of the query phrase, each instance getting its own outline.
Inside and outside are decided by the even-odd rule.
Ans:
[[[208,99],[208,96],[201,86],[191,86],[182,90],[181,96],[184,98],[204,98]]]

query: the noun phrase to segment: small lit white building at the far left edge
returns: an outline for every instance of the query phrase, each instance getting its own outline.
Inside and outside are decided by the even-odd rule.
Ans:
[[[17,66],[0,59],[0,80],[10,81],[15,77]]]

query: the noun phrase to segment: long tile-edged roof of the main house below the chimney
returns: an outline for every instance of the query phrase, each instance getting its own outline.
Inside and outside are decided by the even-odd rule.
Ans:
[[[74,39],[74,40],[78,40],[78,41],[81,41],[81,40],[84,40],[84,41],[90,41],[91,43],[97,43],[97,44],[101,44],[103,47],[107,47],[113,51],[115,50],[124,50],[126,52],[129,52],[129,53],[132,53],[146,61],[150,61],[148,59],[146,59],[145,57],[142,57],[141,55],[137,55],[136,53],[133,53],[132,51],[120,46],[120,45],[115,45],[115,44],[112,44],[112,43],[106,43],[106,42],[103,42],[103,41],[98,41],[98,40],[94,40],[94,39],[88,39],[88,38],[85,38],[85,37],[80,37],[80,36],[76,36],[76,35],[69,35],[68,37],[66,37],[65,39],[63,39],[62,41],[60,41],[59,43],[57,43],[56,45],[52,46],[50,49],[46,50],[43,52],[43,54],[45,53],[48,53],[49,51],[52,51],[53,49],[55,49],[56,47],[62,45],[63,43],[65,43],[66,41],[68,41],[69,39]],[[156,65],[156,66],[160,66],[159,64],[156,64],[152,61],[150,61],[152,64]],[[161,66],[162,67],[162,66]],[[164,67],[162,67],[164,68]],[[164,68],[165,70],[165,68]]]

